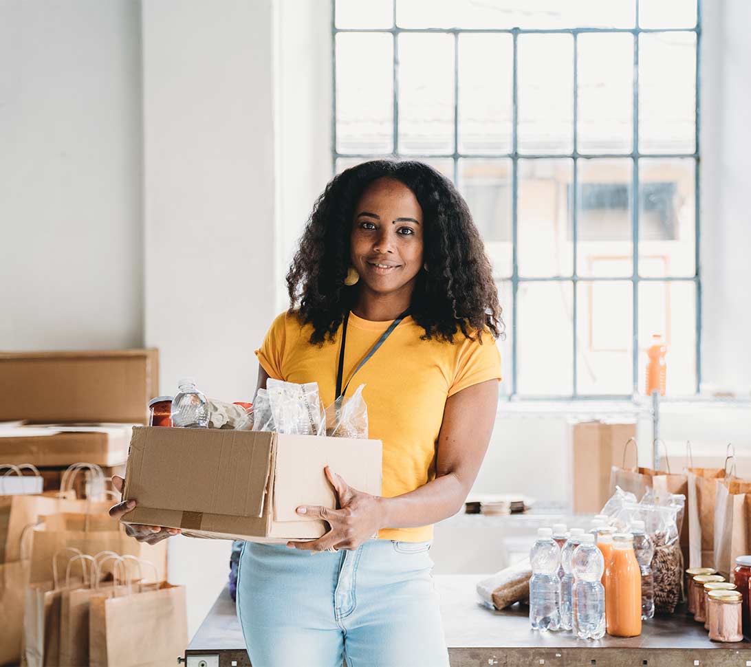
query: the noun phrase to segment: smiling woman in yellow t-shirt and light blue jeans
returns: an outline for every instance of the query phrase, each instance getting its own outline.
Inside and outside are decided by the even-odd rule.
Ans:
[[[318,382],[329,405],[366,385],[369,437],[383,442],[382,496],[326,468],[341,509],[297,509],[326,521],[324,536],[246,542],[237,613],[251,662],[448,665],[431,524],[463,506],[501,377],[501,309],[472,216],[427,164],[360,164],[318,198],[287,285],[291,309],[256,352],[258,387]],[[146,541],[174,532],[133,530]]]

